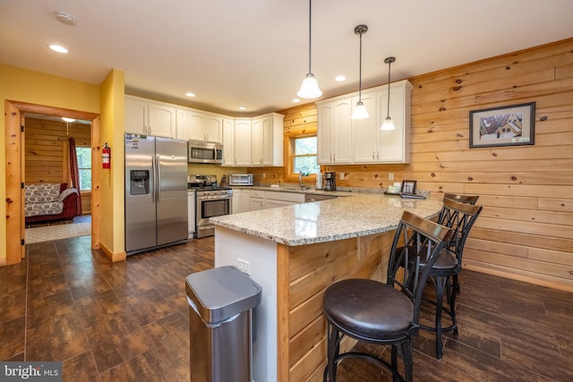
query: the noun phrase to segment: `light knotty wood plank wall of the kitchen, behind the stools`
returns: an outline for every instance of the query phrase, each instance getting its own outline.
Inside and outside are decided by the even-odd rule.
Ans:
[[[432,199],[480,195],[464,267],[573,291],[573,38],[409,80],[411,163],[327,166],[345,174],[337,185],[415,179]],[[526,102],[535,102],[535,145],[469,149],[470,110]],[[281,113],[286,134],[316,126],[313,104]],[[292,182],[277,167],[251,170],[256,182]]]

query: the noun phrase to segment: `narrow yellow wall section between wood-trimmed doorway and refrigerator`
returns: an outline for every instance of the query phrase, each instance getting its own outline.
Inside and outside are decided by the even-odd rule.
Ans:
[[[111,148],[111,168],[101,170],[101,244],[114,256],[124,256],[124,82],[125,74],[113,70],[101,84],[99,145]],[[120,257],[122,256],[120,255]]]

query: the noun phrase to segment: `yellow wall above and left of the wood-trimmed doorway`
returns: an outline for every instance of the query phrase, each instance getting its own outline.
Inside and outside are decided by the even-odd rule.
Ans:
[[[0,64],[0,108],[4,100],[99,113],[98,85]],[[6,199],[5,126],[0,118],[0,199]],[[6,208],[0,203],[0,263],[6,259]]]

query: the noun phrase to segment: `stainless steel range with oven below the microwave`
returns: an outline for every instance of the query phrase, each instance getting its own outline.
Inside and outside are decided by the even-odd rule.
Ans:
[[[233,190],[218,185],[217,175],[201,174],[187,175],[187,188],[196,190],[195,237],[214,235],[215,225],[210,224],[209,218],[231,213]]]

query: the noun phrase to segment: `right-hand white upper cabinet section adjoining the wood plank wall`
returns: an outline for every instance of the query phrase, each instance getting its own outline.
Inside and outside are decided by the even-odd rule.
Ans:
[[[356,120],[353,124],[353,163],[355,164],[410,162],[412,85],[408,81],[390,84],[389,114],[388,87],[381,88],[368,96],[368,105],[363,101],[371,117]],[[375,98],[375,104],[371,106],[372,98]],[[392,118],[396,130],[389,132],[380,130],[387,115]]]

